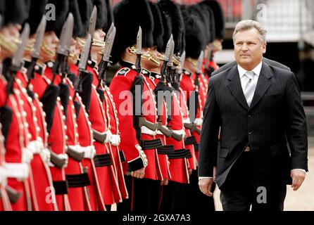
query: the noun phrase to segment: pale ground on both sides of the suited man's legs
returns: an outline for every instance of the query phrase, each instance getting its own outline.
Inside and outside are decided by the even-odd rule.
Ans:
[[[314,211],[314,148],[308,150],[308,175],[298,191],[292,191],[287,186],[287,197],[284,201],[285,211]],[[220,191],[216,188],[214,192],[215,207],[222,211],[220,204]]]

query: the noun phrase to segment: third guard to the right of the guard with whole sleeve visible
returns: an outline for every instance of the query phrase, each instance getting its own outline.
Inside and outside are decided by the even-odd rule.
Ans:
[[[187,58],[184,62],[180,87],[185,91],[191,122],[193,122],[191,135],[195,136],[198,144],[203,120],[203,104],[206,101],[206,83],[201,77],[202,52],[206,45],[206,36],[202,35],[203,25],[199,17],[191,15],[187,10],[183,12],[183,15]],[[194,145],[196,160],[198,160],[197,144]],[[187,188],[187,195],[190,197],[187,199],[187,209],[213,211],[213,198],[203,198],[199,191],[197,169],[193,170],[190,181],[191,184]]]

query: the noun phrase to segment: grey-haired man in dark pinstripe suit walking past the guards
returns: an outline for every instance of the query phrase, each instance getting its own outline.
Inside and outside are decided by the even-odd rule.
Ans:
[[[259,23],[241,21],[233,37],[237,65],[208,84],[199,187],[213,195],[216,181],[223,210],[283,210],[286,185],[298,190],[308,171],[299,87],[292,72],[263,63],[265,34]]]

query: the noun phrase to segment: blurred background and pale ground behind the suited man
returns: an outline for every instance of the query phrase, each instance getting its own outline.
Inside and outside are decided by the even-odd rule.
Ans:
[[[195,4],[201,0],[175,0]],[[296,75],[308,121],[308,164],[306,180],[299,191],[287,190],[285,210],[314,210],[314,1],[313,0],[217,0],[225,14],[225,39],[214,60],[223,65],[234,60],[232,33],[240,20],[257,20],[265,25],[266,58],[287,65]],[[111,4],[119,0],[111,0]],[[217,188],[218,189],[218,188]],[[215,191],[216,210],[222,210],[219,190]]]

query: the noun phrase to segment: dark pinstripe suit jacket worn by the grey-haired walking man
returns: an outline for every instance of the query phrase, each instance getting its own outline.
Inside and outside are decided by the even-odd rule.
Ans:
[[[248,145],[257,182],[289,184],[291,169],[308,170],[306,116],[293,72],[263,63],[249,107],[234,65],[209,79],[203,113],[199,176],[213,176],[217,165],[216,181],[222,186]]]

